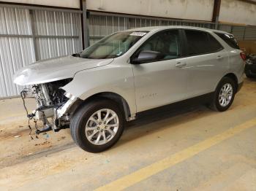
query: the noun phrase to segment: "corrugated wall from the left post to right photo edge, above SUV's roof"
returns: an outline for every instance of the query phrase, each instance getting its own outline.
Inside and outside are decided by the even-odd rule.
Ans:
[[[215,28],[215,23],[164,18],[154,19],[152,17],[144,16],[139,17],[104,12],[90,12],[90,44],[94,44],[103,36],[112,34],[113,32],[144,26],[195,26],[203,28]],[[255,26],[230,26],[219,24],[218,29],[233,34],[238,40],[256,40]]]

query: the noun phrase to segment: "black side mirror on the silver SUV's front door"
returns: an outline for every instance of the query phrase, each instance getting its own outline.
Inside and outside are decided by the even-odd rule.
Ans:
[[[131,58],[132,64],[140,64],[147,62],[154,62],[164,58],[164,55],[161,52],[143,50],[138,55],[138,58]]]

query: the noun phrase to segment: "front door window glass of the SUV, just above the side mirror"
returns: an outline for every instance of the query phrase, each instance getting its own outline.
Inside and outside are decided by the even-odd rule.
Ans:
[[[179,58],[181,56],[181,42],[178,30],[159,32],[148,39],[135,53],[135,57],[141,51],[155,51],[162,54],[162,60]]]

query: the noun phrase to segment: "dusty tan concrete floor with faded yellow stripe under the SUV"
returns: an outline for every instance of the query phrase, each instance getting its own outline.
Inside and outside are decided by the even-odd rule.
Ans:
[[[31,140],[24,115],[20,99],[0,101],[0,190],[256,190],[255,80],[227,112],[144,116],[99,154],[76,147],[68,129]]]

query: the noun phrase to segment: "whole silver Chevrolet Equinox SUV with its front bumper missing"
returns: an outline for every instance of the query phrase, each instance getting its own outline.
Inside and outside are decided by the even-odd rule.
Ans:
[[[232,34],[207,28],[135,28],[82,52],[39,61],[15,74],[33,96],[37,130],[70,127],[82,149],[102,152],[138,113],[183,101],[227,110],[241,88],[245,55]]]

